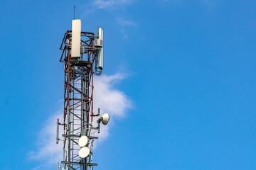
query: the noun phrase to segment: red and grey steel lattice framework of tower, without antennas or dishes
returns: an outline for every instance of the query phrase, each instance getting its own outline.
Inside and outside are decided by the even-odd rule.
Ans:
[[[92,136],[97,128],[92,127],[92,120],[100,113],[93,113],[93,75],[101,74],[102,69],[97,65],[99,47],[94,41],[98,38],[94,33],[81,32],[81,56],[71,57],[72,31],[65,33],[60,50],[63,53],[60,62],[64,62],[64,126],[63,134],[63,169],[93,169],[97,164],[92,163]],[[78,140],[81,136],[90,140],[90,156],[80,158]],[[57,139],[58,142],[59,139]]]

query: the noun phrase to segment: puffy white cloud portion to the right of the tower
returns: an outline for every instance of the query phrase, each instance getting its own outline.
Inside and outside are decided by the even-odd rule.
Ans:
[[[102,141],[109,135],[109,128],[112,125],[112,119],[116,117],[124,117],[128,108],[132,107],[132,103],[124,92],[114,89],[114,84],[124,79],[123,74],[114,74],[112,76],[103,75],[95,77],[95,101],[94,108],[100,108],[101,114],[110,114],[110,123],[101,126],[99,140]]]

